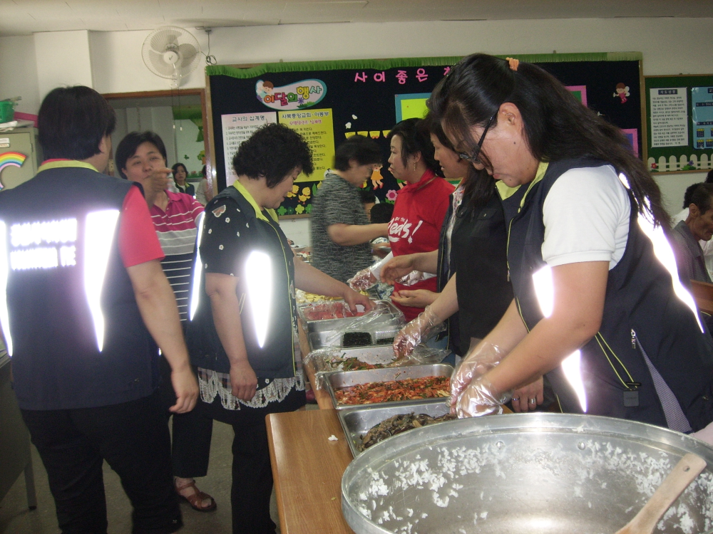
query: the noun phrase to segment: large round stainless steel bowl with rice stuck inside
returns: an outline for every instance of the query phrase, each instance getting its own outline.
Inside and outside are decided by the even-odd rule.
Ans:
[[[657,532],[713,528],[713,447],[658,426],[570,414],[461,419],[394,436],[349,464],[357,534],[614,534],[684,454],[707,468]]]

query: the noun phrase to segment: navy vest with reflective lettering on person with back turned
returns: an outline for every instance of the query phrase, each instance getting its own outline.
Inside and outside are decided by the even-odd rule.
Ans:
[[[116,224],[89,225],[99,230],[108,259],[103,256],[103,281],[100,269],[88,273],[97,277],[95,290],[88,292],[92,286],[85,274],[87,262],[91,265],[101,249],[86,241],[88,217],[94,221],[93,214],[104,210],[120,214],[131,187],[132,182],[91,169],[61,167],[0,193],[9,266],[11,339],[6,342],[12,345],[14,388],[23,409],[106,406],[155,389],[158,354],[120,258],[120,216]],[[76,221],[74,232],[71,221]],[[22,226],[28,223],[40,224]],[[90,301],[98,303],[94,312]],[[101,352],[98,317],[103,318]]]

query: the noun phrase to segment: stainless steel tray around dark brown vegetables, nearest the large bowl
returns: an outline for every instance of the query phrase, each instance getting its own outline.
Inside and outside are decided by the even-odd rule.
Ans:
[[[443,397],[437,399],[424,399],[421,402],[412,404],[393,404],[384,406],[383,404],[362,404],[358,407],[351,407],[339,410],[337,416],[339,422],[342,423],[344,435],[347,436],[349,449],[352,451],[352,456],[356,458],[364,451],[359,451],[361,444],[361,436],[366,434],[372,426],[375,426],[382,421],[401,414],[427,414],[431,417],[441,417],[450,411],[448,399],[443,400]],[[389,438],[390,439],[390,438]],[[385,441],[385,440],[384,440]]]

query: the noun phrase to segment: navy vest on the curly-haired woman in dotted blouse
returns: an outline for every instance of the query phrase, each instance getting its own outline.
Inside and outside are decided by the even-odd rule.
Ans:
[[[248,362],[259,378],[294,377],[294,350],[297,341],[293,332],[297,332],[297,307],[294,303],[294,254],[292,248],[289,247],[287,238],[277,223],[273,226],[267,221],[257,219],[255,208],[235,187],[226,187],[211,200],[205,206],[205,216],[212,216],[210,213],[215,203],[225,198],[235,202],[242,214],[245,214],[249,219],[250,231],[241,232],[240,239],[246,242],[250,251],[260,251],[270,256],[272,266],[272,302],[270,303],[270,318],[267,323],[267,336],[262,347],[257,342],[255,323],[250,312],[252,308],[250,298],[247,295],[244,300],[241,298],[240,321]],[[200,252],[198,247],[196,249],[197,253]],[[241,297],[240,293],[243,293],[245,289],[246,260],[247,257],[236,258],[240,272],[240,282],[237,288],[239,298]],[[196,268],[202,268],[202,266],[197,265]],[[193,281],[197,279],[198,273],[194,272]],[[230,361],[227,359],[220,337],[215,330],[210,299],[205,294],[205,276],[203,274],[200,275],[200,291],[198,293],[198,308],[188,324],[186,335],[190,361],[193,365],[204,369],[230,372]]]

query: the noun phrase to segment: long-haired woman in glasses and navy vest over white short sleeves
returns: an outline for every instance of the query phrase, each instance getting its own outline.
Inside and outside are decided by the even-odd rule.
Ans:
[[[669,217],[615,126],[553,76],[474,54],[431,108],[461,158],[518,192],[503,201],[515,299],[452,381],[461,417],[498,412],[548,375],[563,412],[679,431],[713,420],[713,342],[680,286]]]

